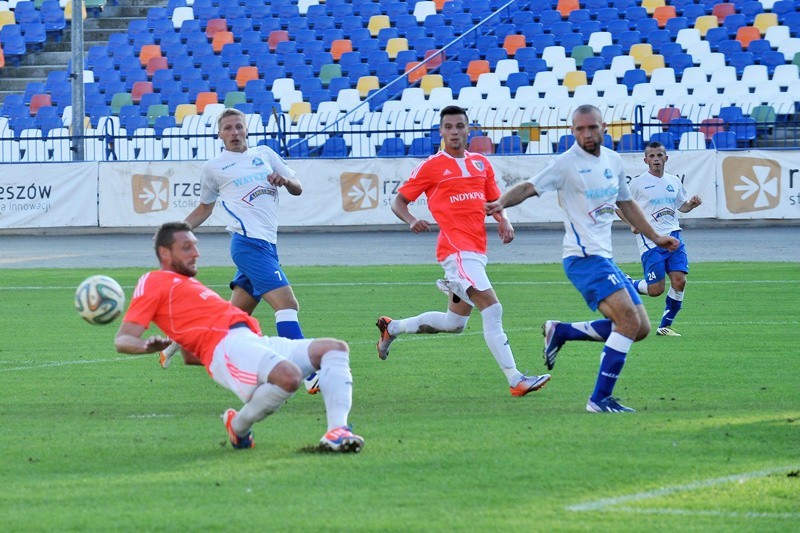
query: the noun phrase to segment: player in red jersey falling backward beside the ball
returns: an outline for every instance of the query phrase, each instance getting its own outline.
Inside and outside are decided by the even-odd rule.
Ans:
[[[118,352],[158,353],[174,340],[192,352],[194,362],[244,406],[222,415],[234,448],[254,446],[253,424],[277,411],[319,371],[324,386],[328,431],[320,445],[332,451],[358,452],[364,439],[350,431],[353,376],[347,343],[338,339],[263,337],[255,318],[195,279],[197,238],[185,222],[168,222],[156,233],[160,270],[144,274],[117,332]],[[150,323],[167,336],[143,337]]]

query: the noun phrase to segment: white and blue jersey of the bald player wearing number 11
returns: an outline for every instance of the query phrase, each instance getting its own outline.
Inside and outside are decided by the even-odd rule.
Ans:
[[[618,153],[603,146],[594,156],[576,143],[528,181],[540,195],[558,192],[566,230],[563,257],[612,257],[616,202],[630,199]]]

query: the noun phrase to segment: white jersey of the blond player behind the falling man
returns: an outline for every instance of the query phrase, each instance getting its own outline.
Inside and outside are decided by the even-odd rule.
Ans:
[[[293,178],[294,171],[266,146],[245,152],[223,150],[203,166],[200,202],[220,204],[230,216],[228,231],[275,244],[278,239],[278,188],[267,176],[277,172]]]

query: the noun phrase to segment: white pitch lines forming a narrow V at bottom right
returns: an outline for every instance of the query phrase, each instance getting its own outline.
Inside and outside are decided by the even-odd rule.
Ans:
[[[644,500],[650,500],[653,498],[660,498],[661,496],[669,496],[670,494],[677,494],[680,492],[690,492],[698,489],[704,489],[708,487],[713,487],[716,485],[722,485],[725,483],[735,483],[735,482],[742,482],[748,479],[755,479],[760,477],[766,477],[771,474],[777,474],[780,472],[786,472],[789,470],[798,470],[800,469],[800,465],[794,466],[782,466],[777,468],[770,468],[767,470],[759,470],[756,472],[746,472],[744,474],[734,474],[731,476],[724,476],[718,477],[714,479],[705,479],[701,481],[695,481],[692,483],[686,483],[684,485],[673,485],[672,487],[664,487],[661,489],[650,490],[645,492],[638,492],[636,494],[628,494],[625,496],[616,496],[614,498],[603,498],[601,500],[593,500],[583,503],[577,503],[574,505],[568,505],[566,507],[567,511],[573,512],[584,512],[584,511],[625,511],[625,512],[642,512],[642,513],[654,513],[654,514],[712,514],[715,515],[717,511],[691,511],[691,510],[670,510],[670,509],[653,509],[653,510],[639,510],[639,509],[631,509],[628,507],[621,506],[621,504],[625,503],[632,503],[632,502],[641,502]],[[722,513],[720,512],[720,516],[776,516],[776,517],[783,517],[782,515],[787,515],[786,518],[795,518],[800,516],[800,513]]]

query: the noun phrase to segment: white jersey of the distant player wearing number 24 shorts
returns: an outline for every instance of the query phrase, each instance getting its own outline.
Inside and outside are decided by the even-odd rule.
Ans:
[[[631,198],[642,208],[645,218],[659,235],[669,235],[681,229],[678,208],[686,202],[688,194],[680,178],[665,173],[659,178],[650,172],[637,176],[630,184]],[[639,253],[656,245],[644,235],[637,235]]]

